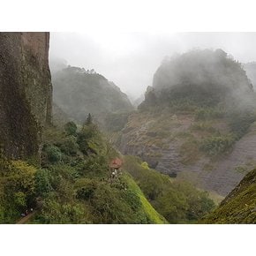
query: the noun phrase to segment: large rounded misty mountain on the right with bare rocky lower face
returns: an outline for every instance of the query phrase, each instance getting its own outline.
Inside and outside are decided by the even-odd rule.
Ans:
[[[226,196],[256,162],[245,71],[220,50],[195,51],[162,64],[153,85],[122,131],[121,152]]]

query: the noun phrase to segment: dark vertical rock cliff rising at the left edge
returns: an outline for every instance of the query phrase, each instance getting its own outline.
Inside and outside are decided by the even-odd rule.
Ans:
[[[0,143],[9,157],[35,155],[51,121],[49,33],[0,33]]]

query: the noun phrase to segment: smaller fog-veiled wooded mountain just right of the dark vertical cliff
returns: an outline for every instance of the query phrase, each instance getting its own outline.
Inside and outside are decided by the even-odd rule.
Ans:
[[[95,121],[105,124],[110,114],[133,109],[126,94],[113,82],[92,71],[69,66],[54,72],[52,83],[56,105],[80,124],[88,113],[94,116]]]

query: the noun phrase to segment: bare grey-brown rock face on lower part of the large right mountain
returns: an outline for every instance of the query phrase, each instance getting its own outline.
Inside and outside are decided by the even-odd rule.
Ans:
[[[215,128],[227,129],[224,120],[215,122]],[[179,179],[226,196],[256,164],[256,123],[236,142],[230,154],[214,161],[184,144],[189,138],[205,135],[192,132],[194,124],[191,115],[135,113],[122,131],[119,149],[123,154],[139,155],[162,173],[177,174]]]

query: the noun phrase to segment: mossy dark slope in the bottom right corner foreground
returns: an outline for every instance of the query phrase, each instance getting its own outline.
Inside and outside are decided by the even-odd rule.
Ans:
[[[202,223],[256,223],[256,169]]]

